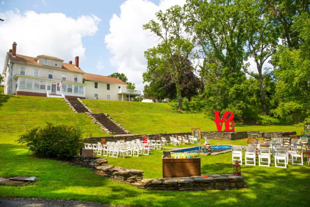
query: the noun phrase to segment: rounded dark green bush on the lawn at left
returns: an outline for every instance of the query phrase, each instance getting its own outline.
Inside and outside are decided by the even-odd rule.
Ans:
[[[26,144],[40,157],[67,159],[77,154],[81,138],[79,127],[47,123],[44,128],[36,127],[20,135],[17,142]]]

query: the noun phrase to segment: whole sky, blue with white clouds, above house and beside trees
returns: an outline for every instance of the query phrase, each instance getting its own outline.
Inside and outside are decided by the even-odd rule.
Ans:
[[[142,25],[155,13],[186,0],[0,0],[0,65],[17,42],[17,54],[49,55],[65,62],[80,57],[84,72],[124,73],[143,90],[144,51],[158,38]],[[256,70],[251,59],[250,69]],[[270,65],[270,64],[269,64]],[[269,66],[267,63],[265,66]]]

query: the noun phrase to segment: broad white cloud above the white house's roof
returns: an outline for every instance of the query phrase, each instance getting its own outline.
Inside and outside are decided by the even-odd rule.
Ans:
[[[49,55],[65,62],[85,60],[82,37],[93,36],[100,19],[94,15],[79,16],[77,19],[63,13],[36,13],[34,11],[7,11],[0,13],[5,19],[0,24],[0,65],[5,54],[17,43],[17,54],[27,56]]]

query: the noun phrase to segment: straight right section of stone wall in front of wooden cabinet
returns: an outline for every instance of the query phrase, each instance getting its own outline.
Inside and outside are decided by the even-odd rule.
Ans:
[[[184,178],[158,178],[158,179],[143,179],[140,182],[132,183],[146,190],[224,190],[236,189],[244,187],[242,176],[233,174],[224,175],[208,175],[208,178],[203,176],[193,176]]]

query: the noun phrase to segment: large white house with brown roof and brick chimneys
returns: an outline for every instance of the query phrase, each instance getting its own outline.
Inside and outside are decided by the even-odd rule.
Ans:
[[[120,79],[85,73],[78,56],[73,65],[57,57],[16,54],[16,46],[14,42],[5,59],[4,94],[118,101],[141,95],[141,91],[126,89]]]

